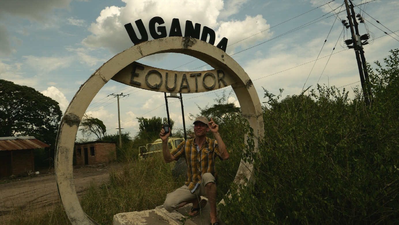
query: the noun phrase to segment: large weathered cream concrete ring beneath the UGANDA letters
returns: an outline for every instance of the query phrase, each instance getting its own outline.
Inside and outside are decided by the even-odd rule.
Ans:
[[[191,55],[213,68],[220,68],[231,74],[235,79],[235,83],[231,86],[241,105],[243,117],[248,120],[255,136],[263,137],[262,107],[255,87],[243,68],[223,50],[205,41],[189,37],[154,39],[134,45],[104,63],[81,85],[61,119],[55,146],[55,176],[63,207],[72,224],[97,224],[83,212],[73,180],[74,143],[83,114],[98,91],[119,71],[142,57],[168,52]],[[245,143],[247,138],[245,135]],[[257,146],[255,140],[256,150]],[[252,164],[241,160],[234,181],[244,184],[245,178],[251,179],[252,171]]]

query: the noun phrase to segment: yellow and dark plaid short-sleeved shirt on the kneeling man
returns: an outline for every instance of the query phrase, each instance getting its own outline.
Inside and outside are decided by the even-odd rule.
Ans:
[[[201,177],[205,173],[211,173],[217,179],[215,158],[219,156],[219,146],[216,140],[206,138],[205,143],[200,146],[199,152],[194,140],[195,138],[192,138],[180,143],[171,152],[176,160],[180,157],[186,158],[188,165],[186,185],[191,191],[197,183],[201,183]]]

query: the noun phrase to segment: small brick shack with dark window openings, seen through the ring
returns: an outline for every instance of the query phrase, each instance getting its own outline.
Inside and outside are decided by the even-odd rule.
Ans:
[[[76,165],[95,165],[111,162],[117,158],[114,142],[92,141],[76,144]]]

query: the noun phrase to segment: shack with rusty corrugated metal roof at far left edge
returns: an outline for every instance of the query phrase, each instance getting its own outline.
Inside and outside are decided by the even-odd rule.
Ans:
[[[35,148],[48,148],[34,136],[0,137],[0,178],[35,170]]]

